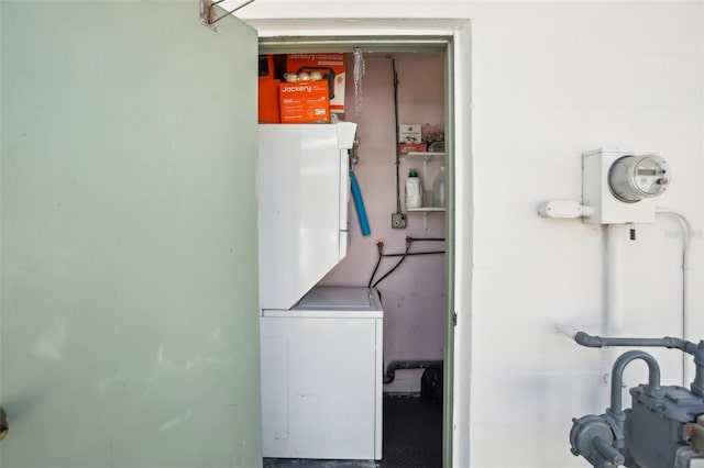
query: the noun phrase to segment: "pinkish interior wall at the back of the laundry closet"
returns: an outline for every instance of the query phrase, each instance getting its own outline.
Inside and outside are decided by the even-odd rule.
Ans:
[[[396,54],[398,74],[398,118],[402,123],[438,125],[443,123],[444,56],[442,54]],[[365,56],[362,78],[362,109],[354,108],[353,62],[348,60],[345,120],[358,123],[360,160],[354,167],[360,182],[371,235],[362,236],[353,204],[350,205],[350,248],[346,257],[321,281],[326,286],[366,286],[377,259],[377,242],[384,253],[403,253],[406,236],[444,237],[444,213],[429,213],[427,229],[422,213],[406,213],[407,229],[394,230],[391,215],[396,211],[396,130],[391,55]],[[441,163],[428,167],[430,188]],[[422,161],[402,158],[399,182],[402,208],[405,180],[415,167],[422,175]],[[442,250],[442,242],[417,242],[410,252]],[[398,260],[384,258],[374,281]],[[396,359],[442,359],[446,269],[444,255],[406,257],[404,263],[378,283],[384,303],[384,361]],[[396,372],[385,391],[418,391],[419,370]]]

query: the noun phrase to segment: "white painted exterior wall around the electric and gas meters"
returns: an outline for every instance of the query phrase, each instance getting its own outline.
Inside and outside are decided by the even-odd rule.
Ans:
[[[587,466],[569,453],[570,419],[604,411],[610,365],[605,352],[581,348],[554,327],[603,333],[605,232],[543,220],[536,209],[581,198],[582,152],[663,155],[672,186],[659,202],[693,227],[686,337],[704,336],[704,3],[257,0],[238,15],[471,21],[473,144],[461,157],[472,165],[455,175],[472,192],[457,232],[460,243],[473,238],[457,265],[471,272],[457,304],[459,320],[471,323],[463,328],[471,347],[463,342],[457,355],[471,385],[455,388],[453,465]],[[624,230],[625,335],[682,335],[680,233],[670,220],[638,226],[636,242]],[[653,354],[663,382],[680,383],[679,353]],[[645,381],[645,366],[634,369],[628,383]]]

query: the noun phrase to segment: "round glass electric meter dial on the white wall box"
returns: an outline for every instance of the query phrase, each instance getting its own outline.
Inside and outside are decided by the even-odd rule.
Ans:
[[[626,203],[657,197],[669,185],[670,166],[660,156],[624,156],[616,159],[608,170],[612,193]]]

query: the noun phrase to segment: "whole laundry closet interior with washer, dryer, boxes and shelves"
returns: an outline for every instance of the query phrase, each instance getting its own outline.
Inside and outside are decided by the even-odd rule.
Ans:
[[[260,57],[262,420],[264,457],[274,464],[265,466],[440,466],[446,55],[328,55],[342,67],[287,64],[315,53]],[[329,98],[327,111],[282,103],[284,87],[310,85]],[[298,123],[279,123],[292,115]],[[326,145],[330,156],[314,155]],[[316,227],[328,209],[329,232]],[[307,237],[318,230],[319,238]],[[419,453],[424,444],[403,425],[435,446]]]

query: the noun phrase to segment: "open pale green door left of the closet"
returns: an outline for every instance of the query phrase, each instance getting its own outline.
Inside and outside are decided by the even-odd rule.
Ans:
[[[3,468],[261,465],[255,32],[0,8]]]

